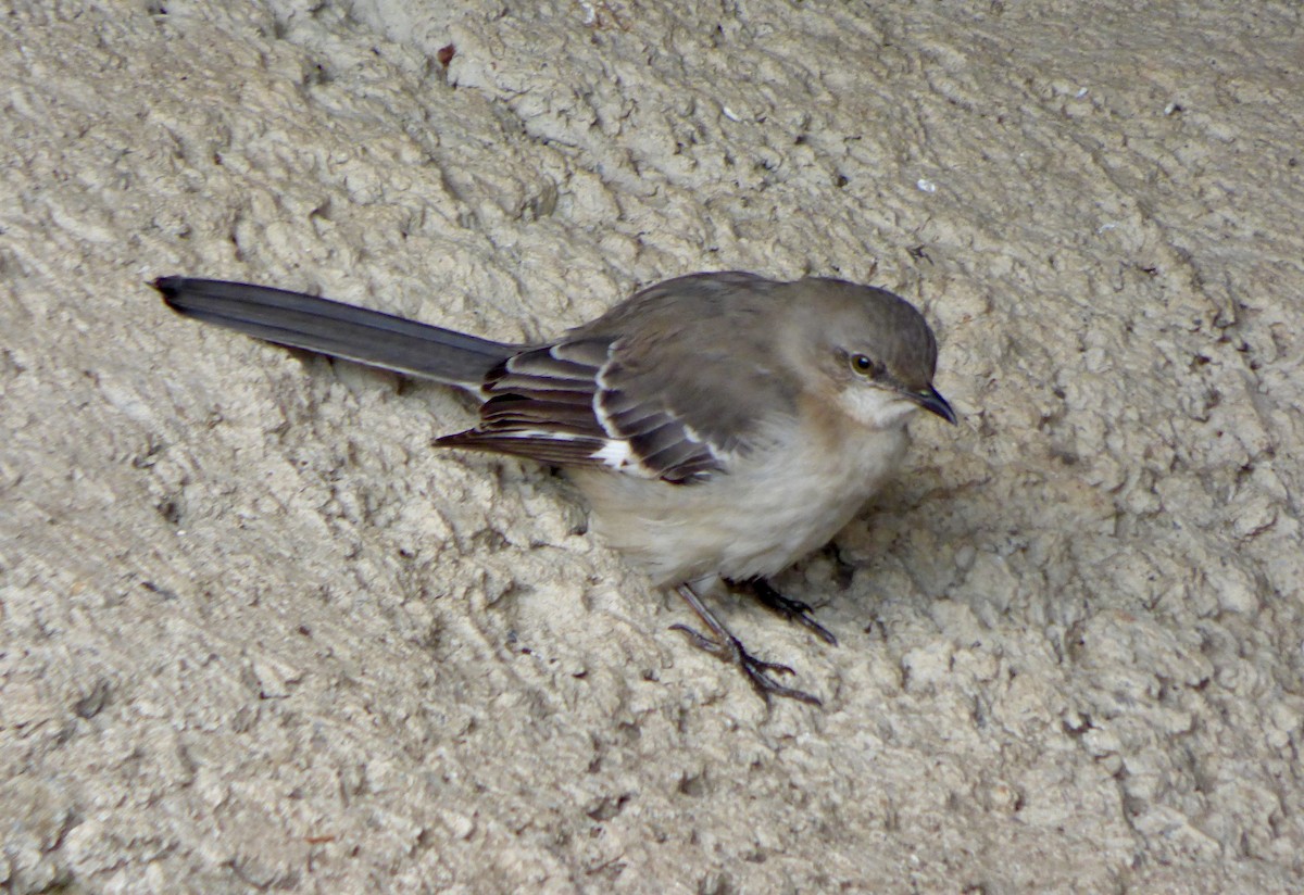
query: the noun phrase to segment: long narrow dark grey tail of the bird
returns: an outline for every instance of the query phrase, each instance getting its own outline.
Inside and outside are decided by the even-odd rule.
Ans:
[[[168,307],[258,339],[479,390],[484,375],[520,350],[488,339],[245,283],[164,276]]]

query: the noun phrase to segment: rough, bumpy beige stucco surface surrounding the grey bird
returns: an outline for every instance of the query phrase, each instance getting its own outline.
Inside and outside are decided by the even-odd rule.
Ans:
[[[0,18],[0,882],[1299,885],[1297,7],[160,5]],[[964,414],[784,580],[841,647],[725,607],[823,711],[455,396],[145,287],[520,339],[719,268],[910,297]]]

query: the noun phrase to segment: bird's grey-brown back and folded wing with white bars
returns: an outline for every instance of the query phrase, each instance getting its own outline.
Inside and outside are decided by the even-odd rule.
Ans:
[[[689,483],[755,447],[793,413],[764,313],[782,284],[709,274],[644,289],[562,340],[485,376],[476,429],[439,444]]]

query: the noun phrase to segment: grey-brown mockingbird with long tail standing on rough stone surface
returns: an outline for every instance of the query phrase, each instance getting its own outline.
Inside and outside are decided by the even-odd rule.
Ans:
[[[919,311],[841,280],[681,276],[532,345],[266,287],[155,287],[188,317],[479,395],[480,423],[434,443],[562,466],[608,543],[709,633],[674,628],[767,701],[819,705],[775,679],[792,668],[743,649],[703,589],[747,589],[836,644],[769,576],[825,545],[897,469],[915,410],[956,421],[932,387],[938,348]]]

